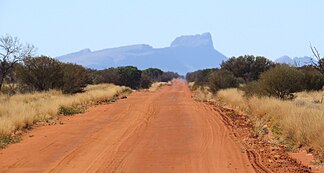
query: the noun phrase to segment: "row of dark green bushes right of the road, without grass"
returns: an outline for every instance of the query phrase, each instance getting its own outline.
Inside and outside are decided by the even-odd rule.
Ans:
[[[194,88],[207,86],[213,93],[220,89],[240,88],[246,96],[293,99],[295,92],[323,88],[324,75],[318,70],[320,67],[317,64],[292,67],[275,64],[265,57],[245,55],[228,59],[220,69],[188,73],[186,79],[194,82]]]

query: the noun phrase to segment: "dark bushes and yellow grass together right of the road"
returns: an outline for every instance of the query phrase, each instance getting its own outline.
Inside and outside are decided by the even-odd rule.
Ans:
[[[293,67],[246,55],[186,78],[198,99],[220,100],[250,115],[256,137],[270,134],[274,143],[315,150],[323,158],[323,58],[317,60],[311,66]]]

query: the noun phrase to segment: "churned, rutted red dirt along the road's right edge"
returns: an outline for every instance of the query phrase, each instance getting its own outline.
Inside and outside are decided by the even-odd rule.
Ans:
[[[223,123],[231,130],[233,139],[238,140],[244,147],[256,172],[312,172],[309,167],[289,157],[282,145],[253,137],[252,124],[247,115],[237,114],[234,110],[220,107],[213,102],[205,104],[220,114]]]

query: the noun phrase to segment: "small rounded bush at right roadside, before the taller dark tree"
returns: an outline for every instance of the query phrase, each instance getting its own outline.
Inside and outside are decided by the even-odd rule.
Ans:
[[[219,70],[209,75],[208,86],[211,92],[216,93],[220,89],[236,88],[239,86],[238,79],[233,73],[225,70]]]

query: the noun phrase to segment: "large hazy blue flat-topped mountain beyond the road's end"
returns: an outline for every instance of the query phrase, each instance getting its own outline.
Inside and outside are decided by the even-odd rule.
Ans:
[[[133,65],[140,69],[157,67],[186,74],[198,69],[219,67],[227,58],[214,49],[211,34],[204,33],[178,37],[170,47],[165,48],[137,44],[97,51],[83,49],[57,59],[94,69]]]

